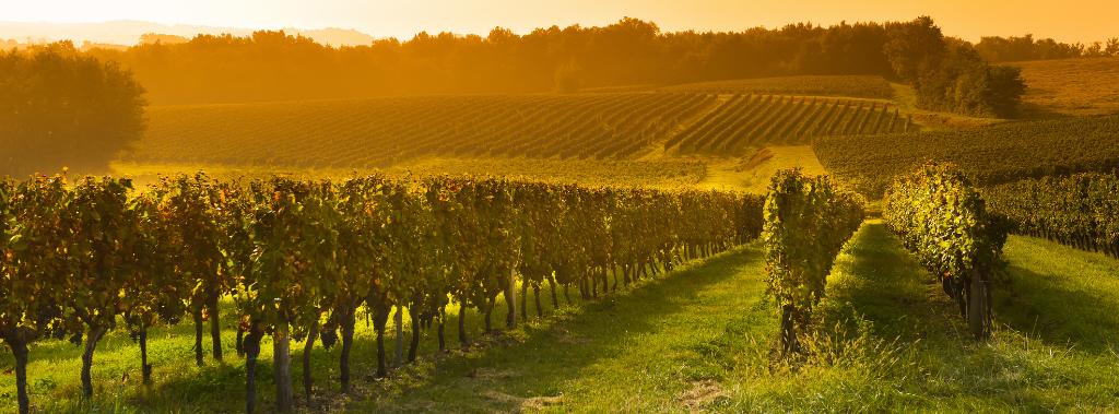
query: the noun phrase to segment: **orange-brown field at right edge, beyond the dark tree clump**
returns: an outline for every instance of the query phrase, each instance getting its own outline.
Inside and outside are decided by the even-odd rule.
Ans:
[[[1119,113],[1119,58],[1019,62],[1026,117]]]

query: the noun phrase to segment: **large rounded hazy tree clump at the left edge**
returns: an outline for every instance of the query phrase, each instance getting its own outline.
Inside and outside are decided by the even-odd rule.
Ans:
[[[0,175],[104,172],[145,128],[144,88],[69,40],[0,55]]]

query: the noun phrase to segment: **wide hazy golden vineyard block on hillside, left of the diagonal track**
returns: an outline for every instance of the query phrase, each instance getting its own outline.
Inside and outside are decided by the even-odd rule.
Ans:
[[[408,96],[152,107],[132,162],[387,167],[422,156],[624,159],[714,96]]]

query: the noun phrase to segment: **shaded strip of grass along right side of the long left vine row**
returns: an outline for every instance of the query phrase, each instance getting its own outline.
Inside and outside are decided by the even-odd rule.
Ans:
[[[516,411],[547,405],[563,393],[573,391],[596,394],[593,389],[577,389],[585,386],[576,384],[577,378],[598,375],[589,371],[611,366],[604,364],[606,359],[624,358],[628,349],[641,345],[641,338],[673,329],[684,320],[681,314],[694,316],[709,300],[705,289],[739,274],[744,266],[764,267],[762,252],[756,245],[699,261],[667,276],[642,281],[630,291],[600,297],[598,301],[560,316],[558,321],[534,321],[523,327],[523,336],[507,346],[440,359],[426,380],[395,395],[372,397],[375,401],[372,402],[373,410]],[[727,292],[736,293],[740,292]],[[773,322],[775,326],[775,320]],[[671,358],[665,356],[658,359]],[[641,363],[646,366],[627,368],[632,369],[630,375],[639,375],[638,371],[648,368],[648,364],[660,361]],[[626,375],[606,373],[605,376],[615,374]],[[603,385],[609,387],[609,384]],[[629,385],[617,384],[618,387]]]

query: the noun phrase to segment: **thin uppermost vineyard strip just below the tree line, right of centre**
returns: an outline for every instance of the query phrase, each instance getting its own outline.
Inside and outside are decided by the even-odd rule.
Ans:
[[[715,81],[662,87],[665,92],[754,95],[820,95],[888,100],[894,90],[882,76],[786,76]]]

